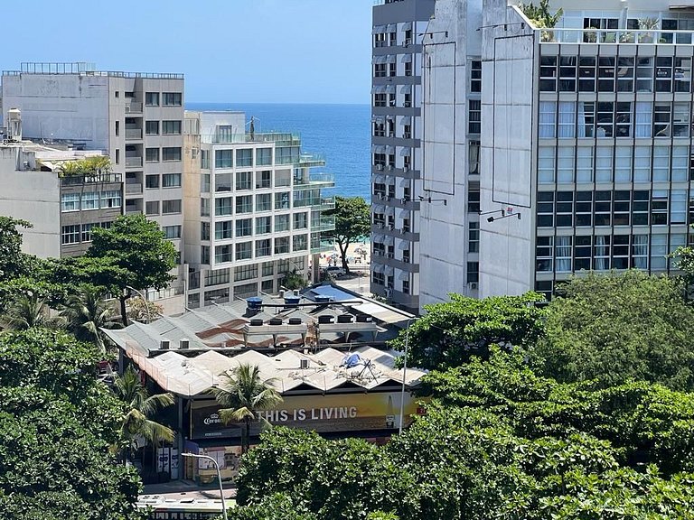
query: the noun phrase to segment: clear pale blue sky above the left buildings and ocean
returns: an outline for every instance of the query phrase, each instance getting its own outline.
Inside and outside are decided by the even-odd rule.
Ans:
[[[183,72],[193,102],[366,104],[372,5],[14,1],[5,8],[0,69],[17,70],[21,61],[90,61],[98,70]]]

